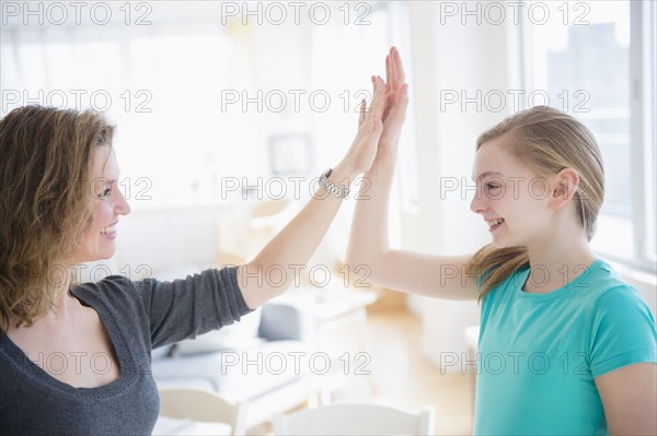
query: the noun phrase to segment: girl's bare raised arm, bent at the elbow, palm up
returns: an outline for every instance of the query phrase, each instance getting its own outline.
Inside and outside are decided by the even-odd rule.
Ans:
[[[392,250],[388,240],[390,191],[402,125],[408,104],[408,85],[396,48],[385,58],[387,92],[383,132],[377,157],[365,173],[368,198],[357,200],[346,263],[354,275],[366,272],[376,284],[413,294],[450,299],[475,299],[476,286],[468,274],[469,257],[428,256]]]

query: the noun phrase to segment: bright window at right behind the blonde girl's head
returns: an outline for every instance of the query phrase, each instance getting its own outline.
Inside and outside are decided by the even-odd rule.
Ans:
[[[598,140],[606,198],[592,247],[654,271],[655,7],[554,2],[548,15],[521,15],[525,85],[542,96],[535,104],[569,113]]]

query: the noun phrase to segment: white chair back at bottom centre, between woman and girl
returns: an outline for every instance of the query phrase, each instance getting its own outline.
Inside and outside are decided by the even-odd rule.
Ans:
[[[275,414],[276,435],[430,435],[433,406],[414,414],[378,404],[331,404],[289,415]]]

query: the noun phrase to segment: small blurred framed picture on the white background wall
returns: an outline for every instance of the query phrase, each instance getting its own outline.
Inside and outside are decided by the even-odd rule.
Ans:
[[[307,175],[313,170],[312,141],[308,133],[269,138],[269,168],[274,175]]]

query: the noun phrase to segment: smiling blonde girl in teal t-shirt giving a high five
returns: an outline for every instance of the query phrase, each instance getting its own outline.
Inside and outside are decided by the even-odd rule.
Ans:
[[[387,82],[346,263],[385,287],[481,303],[474,433],[657,434],[653,314],[589,247],[603,199],[592,134],[549,107],[505,119],[479,138],[472,176],[470,207],[492,244],[464,257],[393,250],[388,202],[407,105],[394,49]],[[446,267],[459,276],[441,278]],[[495,367],[482,365],[492,356]]]

